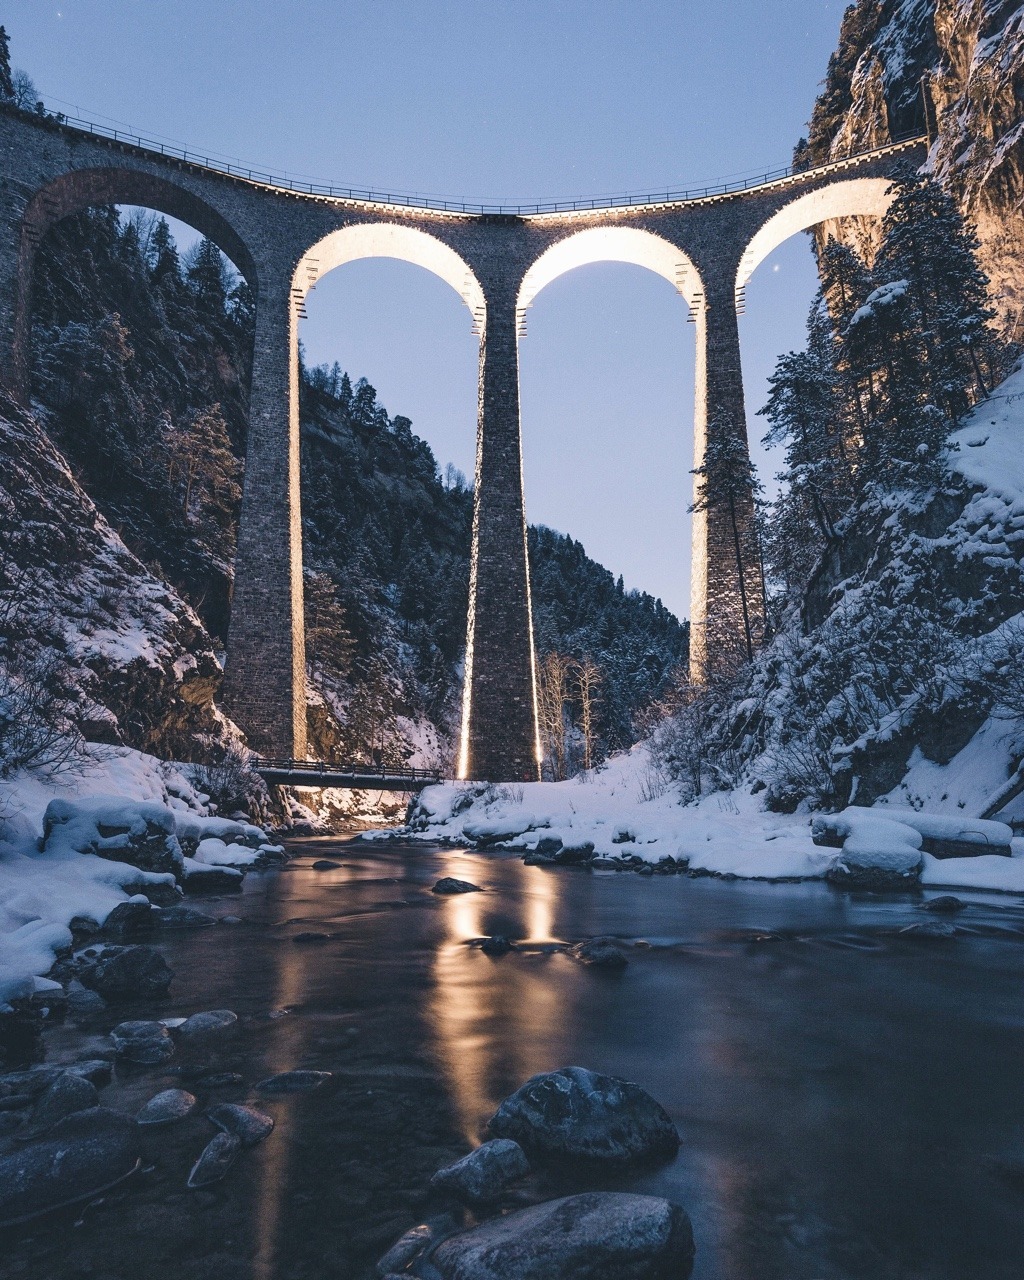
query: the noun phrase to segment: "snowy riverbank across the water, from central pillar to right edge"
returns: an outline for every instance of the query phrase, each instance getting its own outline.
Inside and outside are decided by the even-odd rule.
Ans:
[[[847,809],[844,817],[847,829],[838,840],[823,829],[817,838],[846,849],[815,844],[810,814],[764,812],[760,795],[717,792],[682,806],[658,786],[641,745],[568,782],[428,787],[410,826],[362,838],[465,842],[554,861],[588,860],[596,870],[672,860],[691,873],[763,881],[823,878],[845,856],[856,856],[879,870],[910,869],[909,878],[922,884],[1024,892],[1024,840],[1012,840],[1004,823],[980,823],[956,810],[925,814],[899,803]],[[965,858],[927,851],[957,842],[1001,851]]]

